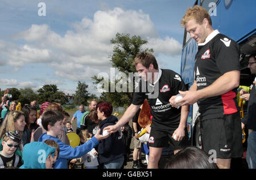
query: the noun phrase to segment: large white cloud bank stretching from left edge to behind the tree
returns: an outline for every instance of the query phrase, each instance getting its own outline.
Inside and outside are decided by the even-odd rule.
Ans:
[[[55,75],[60,78],[86,81],[110,68],[108,57],[113,50],[110,40],[117,32],[141,36],[148,41],[148,48],[154,48],[154,54],[174,56],[181,53],[181,44],[171,37],[160,38],[150,16],[142,10],[117,7],[97,11],[93,19],[84,17],[80,22],[74,22],[72,28],[61,37],[47,24],[32,24],[14,36],[15,40],[24,40],[23,45],[9,46],[0,40],[0,59],[4,58],[7,65],[14,67],[25,63],[47,63],[55,68]]]

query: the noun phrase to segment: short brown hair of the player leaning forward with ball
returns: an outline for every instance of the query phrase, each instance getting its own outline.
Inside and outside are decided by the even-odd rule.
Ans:
[[[136,66],[138,63],[141,63],[146,68],[150,67],[150,64],[152,64],[155,70],[158,70],[158,62],[156,62],[154,55],[151,53],[143,52],[136,55],[133,65]]]

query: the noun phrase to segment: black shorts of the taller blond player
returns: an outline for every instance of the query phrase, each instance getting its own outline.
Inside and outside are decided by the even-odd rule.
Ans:
[[[242,127],[238,113],[200,122],[203,150],[216,158],[242,157]]]

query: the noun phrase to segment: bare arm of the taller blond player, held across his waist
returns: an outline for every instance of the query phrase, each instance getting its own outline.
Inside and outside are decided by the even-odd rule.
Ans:
[[[220,78],[218,78],[215,82],[213,82],[206,88],[200,89],[198,91],[179,91],[181,94],[184,95],[184,97],[181,100],[177,101],[177,103],[181,102],[181,105],[194,104],[201,98],[223,95],[224,93],[238,87],[239,83],[240,71],[229,71],[220,76]]]

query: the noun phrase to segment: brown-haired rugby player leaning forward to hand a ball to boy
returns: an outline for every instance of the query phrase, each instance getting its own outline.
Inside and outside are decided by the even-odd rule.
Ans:
[[[158,63],[151,53],[140,53],[134,63],[139,76],[142,78],[135,88],[133,102],[114,126],[108,126],[110,133],[117,131],[129,122],[147,99],[151,106],[152,124],[148,145],[150,157],[147,168],[158,168],[158,163],[164,147],[169,142],[177,153],[181,148],[189,145],[187,131],[188,106],[173,108],[170,98],[179,91],[187,91],[187,87],[180,75],[172,70],[158,68]],[[144,85],[143,85],[144,84]],[[143,91],[143,89],[145,91]]]

